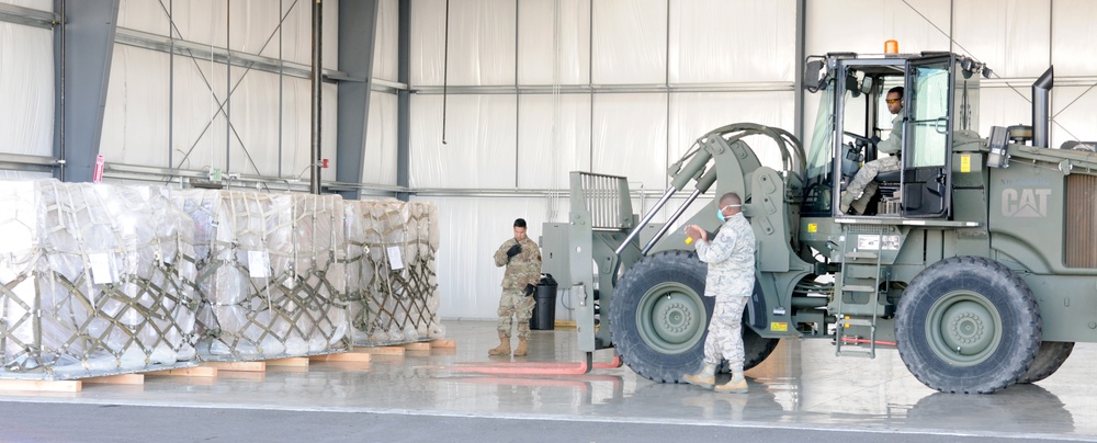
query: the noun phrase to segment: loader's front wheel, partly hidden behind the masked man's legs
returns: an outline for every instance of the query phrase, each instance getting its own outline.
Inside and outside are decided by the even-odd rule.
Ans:
[[[705,297],[706,265],[689,251],[641,259],[613,289],[613,347],[636,374],[682,383],[704,360],[704,338],[714,298]],[[744,368],[761,363],[778,339],[764,339],[744,325]]]

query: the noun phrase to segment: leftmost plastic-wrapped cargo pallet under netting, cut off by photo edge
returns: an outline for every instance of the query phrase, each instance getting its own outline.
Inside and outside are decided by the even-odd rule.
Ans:
[[[0,183],[0,377],[193,366],[189,218],[159,192]]]

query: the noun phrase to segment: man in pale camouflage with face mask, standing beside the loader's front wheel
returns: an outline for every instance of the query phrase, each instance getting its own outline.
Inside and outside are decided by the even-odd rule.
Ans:
[[[686,375],[686,382],[717,393],[747,391],[747,380],[743,377],[743,309],[754,293],[755,283],[755,235],[750,223],[743,216],[743,201],[735,193],[720,197],[716,217],[724,225],[716,238],[709,241],[709,235],[698,225],[686,228],[694,242],[697,257],[709,264],[704,277],[704,296],[716,297],[709,336],[704,339],[704,367],[699,374]],[[732,370],[732,379],[724,385],[716,384],[716,365],[726,359]]]

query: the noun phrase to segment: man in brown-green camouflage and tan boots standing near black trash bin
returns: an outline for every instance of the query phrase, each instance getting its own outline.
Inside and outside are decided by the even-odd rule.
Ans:
[[[502,276],[502,295],[499,297],[499,345],[488,355],[510,355],[510,323],[518,321],[518,348],[514,356],[525,355],[529,347],[530,318],[533,317],[532,297],[541,280],[541,250],[525,237],[525,219],[514,220],[514,238],[502,242],[495,251],[495,265],[507,266]]]

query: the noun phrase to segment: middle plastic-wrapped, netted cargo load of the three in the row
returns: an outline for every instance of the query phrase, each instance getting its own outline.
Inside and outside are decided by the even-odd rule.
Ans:
[[[171,200],[195,224],[202,360],[347,347],[341,197],[182,190]]]

